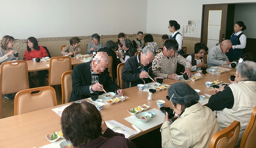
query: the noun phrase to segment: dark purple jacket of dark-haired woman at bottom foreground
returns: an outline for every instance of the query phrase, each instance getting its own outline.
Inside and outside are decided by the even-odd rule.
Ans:
[[[110,128],[97,139],[78,146],[77,148],[137,148],[135,144],[124,138],[124,134],[112,131]]]

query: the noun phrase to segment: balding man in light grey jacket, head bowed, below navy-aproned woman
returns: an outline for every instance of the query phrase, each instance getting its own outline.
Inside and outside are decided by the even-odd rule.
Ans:
[[[229,65],[228,56],[226,53],[232,48],[232,42],[230,40],[224,40],[220,45],[211,48],[207,56],[208,67],[218,65]]]

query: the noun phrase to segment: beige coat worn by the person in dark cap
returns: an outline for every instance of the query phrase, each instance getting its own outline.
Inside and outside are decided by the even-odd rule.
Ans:
[[[170,123],[164,122],[160,129],[162,148],[208,148],[212,136],[220,130],[212,110],[199,102]]]

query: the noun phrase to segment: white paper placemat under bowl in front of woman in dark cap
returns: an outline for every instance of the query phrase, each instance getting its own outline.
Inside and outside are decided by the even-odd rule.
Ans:
[[[153,118],[150,118],[150,120],[145,123],[137,120],[135,115],[124,118],[124,120],[130,122],[131,124],[136,125],[140,130],[143,130],[143,131],[164,123],[164,113],[162,113],[160,110],[157,110],[156,108],[152,108],[152,109],[146,110],[144,112],[154,112],[155,116]]]

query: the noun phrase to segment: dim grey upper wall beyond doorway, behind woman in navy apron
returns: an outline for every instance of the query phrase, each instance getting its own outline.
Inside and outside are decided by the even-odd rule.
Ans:
[[[256,38],[256,4],[236,4],[234,23],[243,21],[246,26],[246,30],[243,33],[247,38]],[[248,16],[254,16],[254,19]]]

